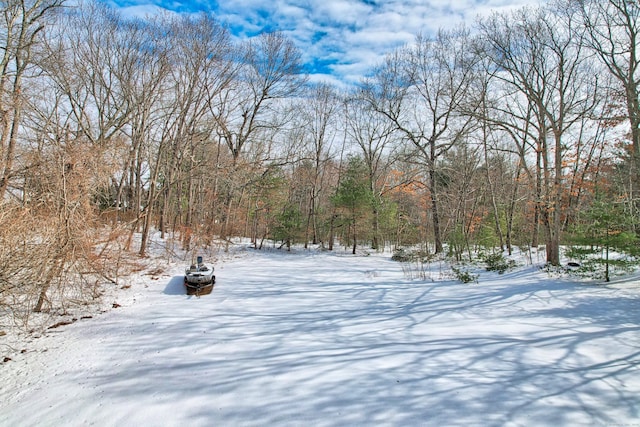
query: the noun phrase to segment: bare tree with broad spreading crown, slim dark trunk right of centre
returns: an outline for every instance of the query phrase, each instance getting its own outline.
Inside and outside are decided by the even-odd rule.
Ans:
[[[442,252],[438,160],[474,124],[461,114],[476,69],[467,50],[466,30],[439,31],[387,57],[365,83],[367,102],[390,120],[413,146],[427,174],[435,251]]]

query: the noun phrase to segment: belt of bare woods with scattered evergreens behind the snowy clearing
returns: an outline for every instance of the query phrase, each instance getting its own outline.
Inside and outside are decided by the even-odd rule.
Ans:
[[[635,1],[419,34],[357,87],[209,14],[0,7],[0,309],[24,319],[97,298],[155,230],[187,250],[637,250]],[[607,204],[625,221],[598,226]]]

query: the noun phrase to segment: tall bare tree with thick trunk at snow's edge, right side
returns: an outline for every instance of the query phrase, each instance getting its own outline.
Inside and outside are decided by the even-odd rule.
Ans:
[[[480,27],[486,52],[496,64],[495,77],[504,85],[504,99],[509,102],[502,113],[518,123],[509,125],[509,130],[525,136],[520,141],[523,163],[528,160],[529,137],[535,144],[537,203],[547,261],[558,265],[567,146],[575,142],[576,125],[598,102],[597,79],[584,51],[584,30],[571,10],[560,8],[494,14]]]

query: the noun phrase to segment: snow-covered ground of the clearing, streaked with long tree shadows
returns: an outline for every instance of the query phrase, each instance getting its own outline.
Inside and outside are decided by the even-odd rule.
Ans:
[[[197,298],[164,267],[1,364],[0,425],[640,425],[633,279],[425,282],[389,254],[247,249]]]

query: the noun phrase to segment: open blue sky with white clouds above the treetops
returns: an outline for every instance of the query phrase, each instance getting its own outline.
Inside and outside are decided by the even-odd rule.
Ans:
[[[492,10],[536,0],[112,0],[127,14],[159,9],[210,11],[240,39],[280,30],[303,52],[312,81],[338,85],[362,78],[393,49],[418,33],[452,28]]]

